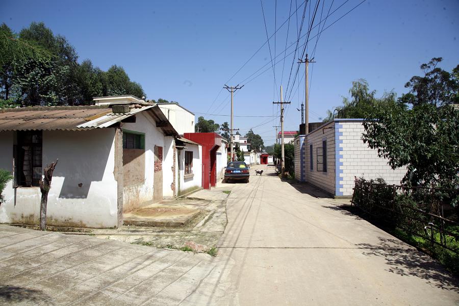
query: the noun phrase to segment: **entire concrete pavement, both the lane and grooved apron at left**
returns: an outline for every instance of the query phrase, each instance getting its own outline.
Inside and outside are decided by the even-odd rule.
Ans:
[[[264,170],[228,184],[216,258],[0,224],[0,304],[459,304],[435,261]]]

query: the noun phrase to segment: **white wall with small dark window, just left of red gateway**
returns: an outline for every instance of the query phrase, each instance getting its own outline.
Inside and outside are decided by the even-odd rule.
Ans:
[[[197,189],[202,186],[202,146],[186,143],[186,149],[180,151],[180,190],[178,195],[184,194],[192,189]],[[192,177],[185,179],[185,152],[193,152],[193,172]]]

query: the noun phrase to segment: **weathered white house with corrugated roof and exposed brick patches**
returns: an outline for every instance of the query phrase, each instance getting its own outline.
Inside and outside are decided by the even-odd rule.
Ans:
[[[95,100],[95,106],[0,110],[0,168],[14,174],[0,222],[38,224],[38,181],[56,159],[49,225],[116,227],[123,213],[174,193],[179,135],[160,108],[134,96]]]

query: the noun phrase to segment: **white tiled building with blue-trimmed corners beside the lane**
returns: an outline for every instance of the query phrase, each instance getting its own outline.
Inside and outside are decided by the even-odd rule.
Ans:
[[[295,159],[296,179],[335,197],[352,195],[355,176],[382,177],[388,184],[399,184],[406,168],[392,170],[386,159],[362,141],[362,123],[363,119],[335,119],[295,138],[295,158],[301,152]]]

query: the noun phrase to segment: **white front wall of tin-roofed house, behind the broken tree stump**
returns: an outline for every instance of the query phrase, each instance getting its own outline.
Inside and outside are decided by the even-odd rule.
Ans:
[[[117,225],[114,136],[114,129],[43,131],[43,166],[59,158],[48,194],[49,225]],[[0,151],[0,167],[12,171],[13,133],[0,133]],[[38,187],[17,188],[15,196],[10,182],[4,192],[0,222],[38,224]]]

